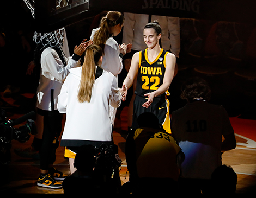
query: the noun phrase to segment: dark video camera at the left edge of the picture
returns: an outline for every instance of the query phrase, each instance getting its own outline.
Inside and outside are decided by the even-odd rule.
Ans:
[[[10,148],[11,141],[17,140],[21,143],[27,142],[30,138],[30,134],[36,134],[35,122],[31,119],[35,116],[35,112],[29,112],[16,120],[6,118],[4,110],[0,109],[0,164],[7,165],[10,163]],[[19,125],[23,122],[25,125],[15,129],[15,125]]]

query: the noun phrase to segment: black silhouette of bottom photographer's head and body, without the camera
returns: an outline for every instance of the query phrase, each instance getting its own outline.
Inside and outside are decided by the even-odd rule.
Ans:
[[[96,165],[97,157],[95,154],[96,150],[93,145],[80,146],[74,161],[74,167],[77,170],[66,177],[62,183],[64,194],[110,195],[117,193],[117,185],[111,178],[111,169],[109,169],[109,174],[106,174],[106,171],[103,173],[96,170],[95,167],[99,169],[100,167]],[[100,165],[104,166],[104,164]],[[107,175],[107,178],[103,177],[104,174]]]

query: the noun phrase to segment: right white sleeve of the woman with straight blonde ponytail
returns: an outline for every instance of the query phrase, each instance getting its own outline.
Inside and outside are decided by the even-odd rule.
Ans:
[[[122,95],[118,88],[117,76],[113,76],[112,86],[111,86],[111,97],[110,105],[114,108],[118,108],[121,104]]]

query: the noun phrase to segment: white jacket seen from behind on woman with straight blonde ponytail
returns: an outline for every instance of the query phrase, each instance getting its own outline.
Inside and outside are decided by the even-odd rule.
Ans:
[[[117,87],[117,77],[103,70],[96,78],[90,103],[79,103],[78,87],[82,67],[70,69],[62,90],[58,95],[58,110],[66,113],[66,122],[61,146],[100,146],[112,141],[112,123],[109,118],[109,105],[119,107],[121,93]]]

